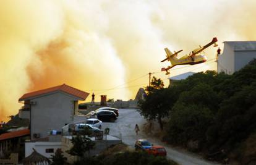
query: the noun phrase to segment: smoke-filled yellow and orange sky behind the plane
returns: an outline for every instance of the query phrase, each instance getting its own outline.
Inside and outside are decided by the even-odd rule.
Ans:
[[[255,6],[254,0],[2,0],[0,119],[17,114],[24,93],[62,83],[95,91],[96,100],[134,98],[148,72],[169,65],[160,63],[165,47],[185,54],[215,36],[221,49],[223,41],[255,40]],[[214,59],[216,48],[205,53]],[[171,76],[216,64],[177,68]],[[164,72],[154,75],[168,85]]]

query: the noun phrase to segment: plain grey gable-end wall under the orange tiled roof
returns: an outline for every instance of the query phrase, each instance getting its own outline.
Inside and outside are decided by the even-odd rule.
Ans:
[[[61,131],[65,124],[74,118],[75,98],[61,91],[31,100],[31,138],[40,133],[40,138],[47,137],[51,130]]]

